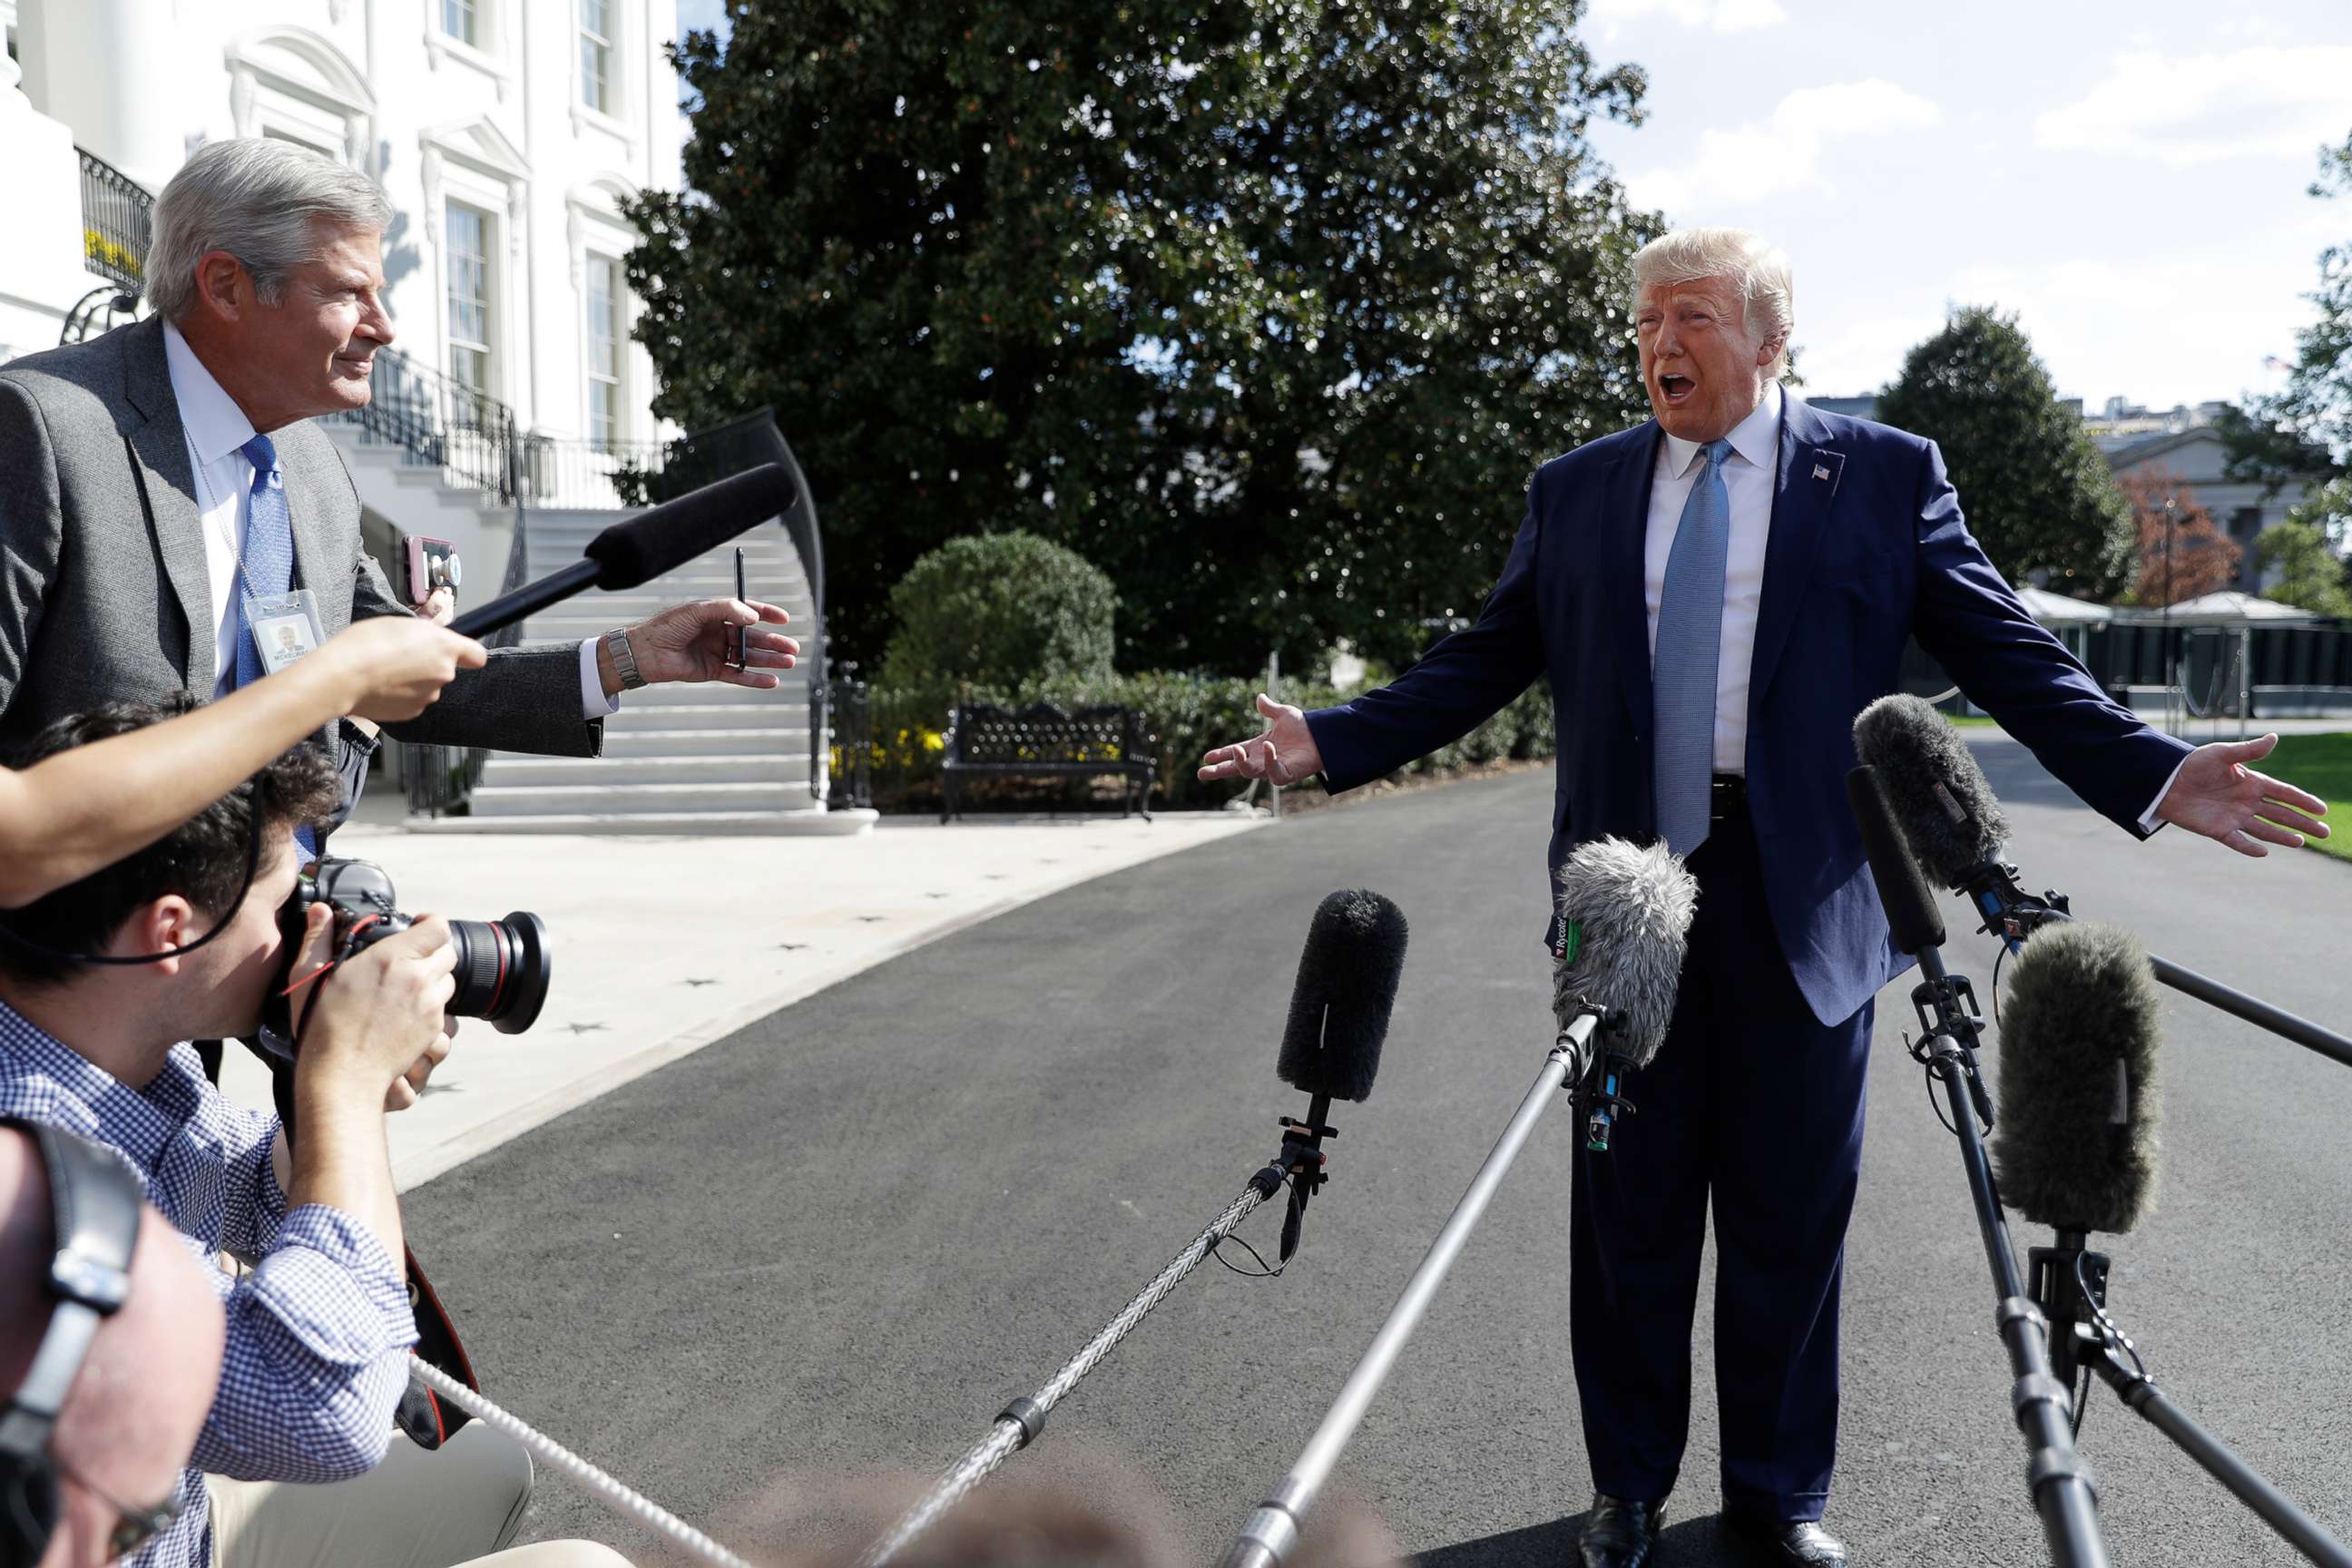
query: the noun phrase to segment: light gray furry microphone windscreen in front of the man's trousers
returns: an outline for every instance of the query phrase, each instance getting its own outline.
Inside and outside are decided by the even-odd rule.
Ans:
[[[1552,959],[1559,1027],[1578,1004],[1625,1016],[1621,1056],[1649,1065],[1675,1023],[1682,954],[1698,910],[1698,879],[1665,844],[1578,844],[1559,865],[1562,950]]]

